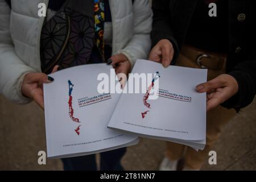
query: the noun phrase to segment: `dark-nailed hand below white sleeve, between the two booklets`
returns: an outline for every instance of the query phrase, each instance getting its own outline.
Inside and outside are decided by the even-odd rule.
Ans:
[[[115,69],[115,73],[118,75],[119,73],[123,73],[126,75],[126,78],[128,77],[129,73],[131,72],[131,63],[127,59],[125,55],[122,53],[119,53],[118,55],[114,55],[110,57],[110,59],[107,62],[108,65],[112,65],[113,68]],[[119,77],[118,77],[119,78]],[[125,78],[119,78],[121,87],[126,84],[126,79]]]

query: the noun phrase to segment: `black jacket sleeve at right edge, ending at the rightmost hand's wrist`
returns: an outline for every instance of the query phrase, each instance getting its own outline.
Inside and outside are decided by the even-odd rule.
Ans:
[[[241,62],[229,72],[229,75],[236,78],[239,90],[222,106],[239,110],[254,100],[256,94],[256,60]]]

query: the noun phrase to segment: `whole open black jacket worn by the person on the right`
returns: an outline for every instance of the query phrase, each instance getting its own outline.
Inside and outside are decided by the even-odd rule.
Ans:
[[[198,7],[197,2],[199,1],[201,0],[153,0],[152,7],[154,17],[151,32],[152,46],[155,46],[161,39],[169,39],[174,45],[175,50],[172,64],[175,64],[175,61],[179,57],[180,50],[186,40],[186,35],[188,35],[187,40],[191,38],[192,34],[189,35],[187,32],[189,27],[191,28],[191,19],[193,18],[194,13],[199,12],[195,11]],[[221,1],[223,2],[227,0],[218,0],[216,3],[221,3]],[[207,24],[207,26],[210,26],[215,30],[215,32],[212,32],[214,32],[214,35],[217,35],[216,39],[220,42],[218,44],[216,43],[217,47],[224,44],[223,42],[228,39],[228,60],[226,64],[226,71],[229,75],[236,78],[239,85],[238,93],[222,104],[222,106],[228,108],[234,107],[236,109],[241,109],[249,105],[256,94],[255,7],[255,0],[228,1],[228,8],[225,9],[229,10],[228,35],[225,33],[227,28],[218,26],[220,28],[220,32],[218,31],[218,28],[212,27],[212,24]],[[222,6],[217,6],[217,15],[220,15],[220,17],[222,12],[221,9]],[[203,28],[208,28],[207,26]],[[205,35],[206,34],[204,34],[204,36],[200,35],[201,39],[205,38]],[[197,34],[197,37],[199,37],[199,34]],[[221,37],[225,40],[221,40]],[[207,38],[211,39],[210,36],[207,36]],[[214,42],[217,41],[212,40],[212,42],[212,44],[214,44]]]

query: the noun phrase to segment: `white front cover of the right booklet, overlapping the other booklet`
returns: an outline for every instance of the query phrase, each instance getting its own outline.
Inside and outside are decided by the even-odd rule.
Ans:
[[[163,68],[161,64],[147,60],[137,60],[133,69],[133,73],[156,72],[160,75],[159,89],[183,96],[183,101],[159,97],[147,101],[151,107],[148,109],[143,104],[145,94],[122,94],[108,126],[156,137],[204,140],[206,94],[197,93],[195,88],[207,81],[207,70],[175,66]],[[184,101],[184,98],[191,98],[191,101]],[[142,113],[147,110],[142,118]]]

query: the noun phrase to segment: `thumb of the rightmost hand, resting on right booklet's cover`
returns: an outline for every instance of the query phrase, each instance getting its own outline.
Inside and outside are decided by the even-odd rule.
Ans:
[[[211,90],[220,88],[222,86],[224,86],[224,82],[220,79],[220,77],[217,77],[213,80],[197,85],[196,90],[197,92],[204,93],[210,92]]]

